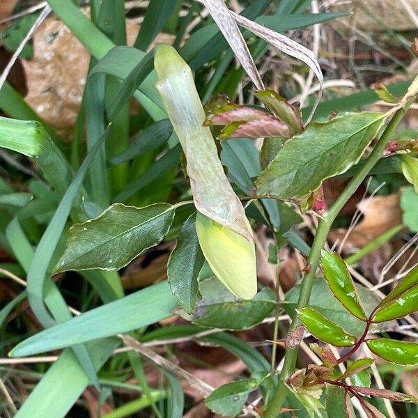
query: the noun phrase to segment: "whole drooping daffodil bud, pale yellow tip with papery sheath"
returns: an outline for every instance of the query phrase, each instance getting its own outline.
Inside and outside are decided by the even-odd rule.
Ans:
[[[210,129],[203,126],[205,113],[194,86],[192,71],[176,49],[169,45],[156,47],[155,70],[157,88],[185,153],[194,204],[201,214],[213,221],[208,228],[201,229],[201,233],[197,230],[200,244],[206,247],[203,254],[212,267],[218,265],[215,274],[232,293],[250,299],[256,293],[253,235],[242,203],[233,192],[219,161]],[[215,231],[219,226],[223,227],[222,233],[212,233],[212,229]],[[211,251],[207,243],[202,244],[203,231],[210,235]],[[229,240],[232,247],[225,245],[225,240]],[[243,251],[235,254],[234,245]],[[225,261],[220,263],[220,267],[214,259],[219,256],[219,248],[228,253],[223,254]],[[233,258],[243,265],[249,263],[251,268],[240,276],[226,265]],[[235,286],[237,282],[239,286]]]

